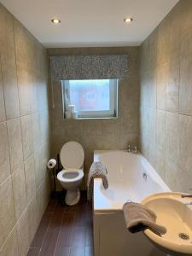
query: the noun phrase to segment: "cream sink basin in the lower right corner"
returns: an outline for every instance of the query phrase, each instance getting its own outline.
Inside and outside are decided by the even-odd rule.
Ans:
[[[155,235],[151,230],[143,233],[165,253],[192,255],[192,198],[182,198],[183,193],[158,193],[149,195],[142,204],[157,215],[157,224],[166,227],[166,234]]]

